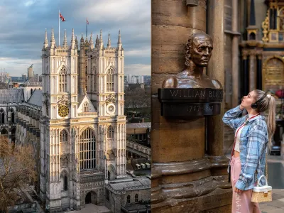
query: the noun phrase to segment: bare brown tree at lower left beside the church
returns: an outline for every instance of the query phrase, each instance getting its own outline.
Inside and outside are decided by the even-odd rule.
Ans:
[[[15,145],[0,136],[0,212],[17,200],[16,189],[36,178],[33,146]]]

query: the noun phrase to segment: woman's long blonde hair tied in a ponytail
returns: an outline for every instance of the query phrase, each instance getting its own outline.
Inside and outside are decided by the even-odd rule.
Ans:
[[[262,90],[256,89],[253,90],[253,92],[256,94],[256,101],[261,99],[265,92]],[[268,128],[268,147],[271,148],[272,146],[272,136],[275,132],[275,98],[272,95],[266,95],[260,102],[258,102],[258,108],[256,109],[259,113],[267,111],[268,116],[266,116],[266,124]]]

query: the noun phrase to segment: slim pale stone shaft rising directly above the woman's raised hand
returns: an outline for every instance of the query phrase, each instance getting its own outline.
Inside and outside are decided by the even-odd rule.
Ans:
[[[231,17],[231,31],[233,31],[232,48],[231,48],[231,60],[232,60],[232,107],[239,103],[239,32],[238,32],[238,0],[232,0],[233,14]]]

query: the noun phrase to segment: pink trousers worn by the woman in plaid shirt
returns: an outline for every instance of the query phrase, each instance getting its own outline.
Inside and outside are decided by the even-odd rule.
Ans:
[[[261,213],[258,203],[251,202],[252,190],[242,191],[240,194],[234,192],[236,182],[241,173],[240,158],[231,157],[231,186],[233,188],[233,199],[231,202],[231,213]]]

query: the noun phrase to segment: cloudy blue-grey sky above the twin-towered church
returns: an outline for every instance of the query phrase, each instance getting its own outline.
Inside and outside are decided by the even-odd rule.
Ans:
[[[1,0],[0,72],[27,75],[33,64],[34,73],[41,75],[45,28],[48,41],[54,28],[58,45],[59,10],[66,19],[60,21],[60,45],[65,29],[69,45],[72,28],[78,40],[82,33],[85,38],[87,18],[88,40],[102,29],[104,45],[110,33],[111,46],[116,46],[121,30],[126,74],[151,75],[151,0]]]

